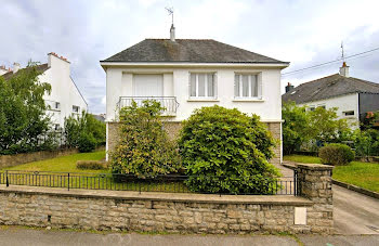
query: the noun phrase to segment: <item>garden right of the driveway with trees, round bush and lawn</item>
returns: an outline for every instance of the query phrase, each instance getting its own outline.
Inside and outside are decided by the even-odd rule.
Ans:
[[[283,118],[284,160],[334,165],[335,180],[379,192],[379,164],[369,161],[379,156],[378,113],[354,131],[338,119],[336,108],[311,112],[286,103]]]

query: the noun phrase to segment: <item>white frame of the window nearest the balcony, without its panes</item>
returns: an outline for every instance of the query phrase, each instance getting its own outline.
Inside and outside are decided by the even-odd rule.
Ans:
[[[195,75],[195,95],[192,95],[192,75]],[[199,95],[199,75],[205,75],[205,89],[204,94]],[[208,91],[208,75],[211,75],[213,78],[213,95],[209,95]],[[188,75],[188,91],[190,100],[217,100],[218,99],[218,85],[217,85],[217,73],[215,72],[190,72]]]

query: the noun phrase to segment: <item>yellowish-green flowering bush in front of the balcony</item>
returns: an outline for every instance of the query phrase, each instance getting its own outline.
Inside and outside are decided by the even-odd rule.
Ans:
[[[139,178],[178,172],[181,168],[178,147],[162,129],[156,101],[135,102],[120,111],[119,141],[110,153],[113,173],[131,173]]]

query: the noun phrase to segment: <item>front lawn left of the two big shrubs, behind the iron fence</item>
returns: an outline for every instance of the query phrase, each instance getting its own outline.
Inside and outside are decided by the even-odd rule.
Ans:
[[[121,191],[155,191],[155,192],[190,192],[183,182],[116,182],[107,169],[82,170],[76,167],[78,160],[101,160],[105,158],[105,151],[80,153],[61,156],[52,159],[28,163],[0,170],[0,183],[5,182],[5,170],[10,184],[52,186],[91,190],[121,190]],[[30,172],[31,171],[31,172]],[[34,173],[35,172],[35,173]],[[39,173],[37,173],[39,172]],[[55,172],[55,173],[44,173]],[[68,177],[68,172],[70,176]]]

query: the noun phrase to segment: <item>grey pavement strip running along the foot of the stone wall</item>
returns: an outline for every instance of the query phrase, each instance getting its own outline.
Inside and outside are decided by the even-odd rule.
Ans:
[[[0,245],[379,245],[379,235],[180,235],[0,228]]]

